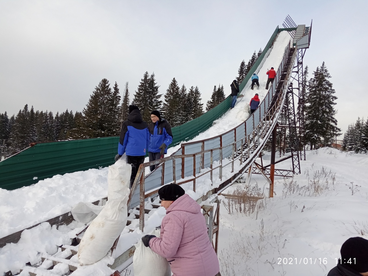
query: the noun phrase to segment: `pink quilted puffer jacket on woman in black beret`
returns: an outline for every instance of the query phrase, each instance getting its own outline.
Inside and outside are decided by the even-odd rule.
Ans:
[[[167,208],[160,238],[152,238],[149,246],[169,261],[174,276],[215,276],[220,271],[201,206],[187,194]]]

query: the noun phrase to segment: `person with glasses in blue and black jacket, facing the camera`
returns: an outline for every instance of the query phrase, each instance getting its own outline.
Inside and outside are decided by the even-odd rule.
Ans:
[[[152,123],[148,125],[150,134],[150,142],[148,146],[149,161],[163,158],[167,153],[167,147],[173,141],[173,133],[169,123],[163,118],[158,110],[151,112]],[[159,164],[149,166],[149,170],[153,171]]]

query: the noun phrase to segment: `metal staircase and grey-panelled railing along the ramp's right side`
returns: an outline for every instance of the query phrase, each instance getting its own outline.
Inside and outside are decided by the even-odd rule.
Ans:
[[[162,185],[191,182],[195,191],[199,177],[209,174],[213,184],[213,176],[216,175],[220,185],[213,189],[213,193],[217,193],[250,167],[265,146],[281,114],[296,53],[296,49],[290,48],[289,44],[268,94],[246,121],[216,137],[184,143],[171,156],[141,164],[128,201],[128,208],[140,206],[141,230],[144,228],[145,200],[157,195]],[[159,166],[145,176],[145,167],[153,164]],[[224,178],[223,170],[230,171],[231,177]]]

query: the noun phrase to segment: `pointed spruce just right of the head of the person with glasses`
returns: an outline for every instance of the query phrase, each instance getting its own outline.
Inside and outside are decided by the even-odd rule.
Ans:
[[[162,107],[163,117],[169,122],[171,127],[180,125],[181,120],[181,102],[180,88],[175,78],[170,82],[164,95],[164,103]]]

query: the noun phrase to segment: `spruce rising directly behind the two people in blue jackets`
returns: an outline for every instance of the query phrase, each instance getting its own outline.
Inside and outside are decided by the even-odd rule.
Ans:
[[[151,121],[152,110],[160,110],[162,101],[160,100],[162,94],[159,94],[159,85],[156,83],[155,73],[149,76],[146,71],[139,82],[138,89],[135,91],[132,104],[139,107],[144,121]]]

